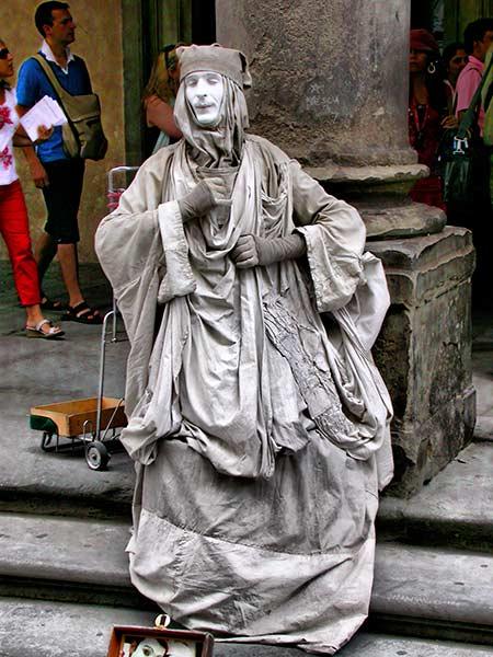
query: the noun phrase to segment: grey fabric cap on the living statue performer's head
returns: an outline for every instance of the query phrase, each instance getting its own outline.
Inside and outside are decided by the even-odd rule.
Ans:
[[[214,71],[238,84],[240,89],[250,89],[250,76],[246,57],[240,50],[223,48],[219,44],[211,46],[181,46],[176,48],[180,60],[180,82],[188,73]]]

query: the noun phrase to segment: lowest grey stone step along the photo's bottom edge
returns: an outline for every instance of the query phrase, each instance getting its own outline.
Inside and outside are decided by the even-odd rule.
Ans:
[[[152,626],[153,614],[133,609],[0,598],[1,657],[106,657],[113,625]],[[216,642],[216,657],[302,657],[290,647]],[[491,648],[362,632],[341,657],[486,657]]]

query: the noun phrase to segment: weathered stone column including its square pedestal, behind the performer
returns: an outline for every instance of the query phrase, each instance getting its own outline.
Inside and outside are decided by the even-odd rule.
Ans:
[[[391,491],[408,495],[474,418],[470,234],[408,196],[427,175],[408,143],[410,0],[216,0],[216,23],[251,62],[252,131],[355,205],[386,265],[392,308],[375,354],[395,406]]]

